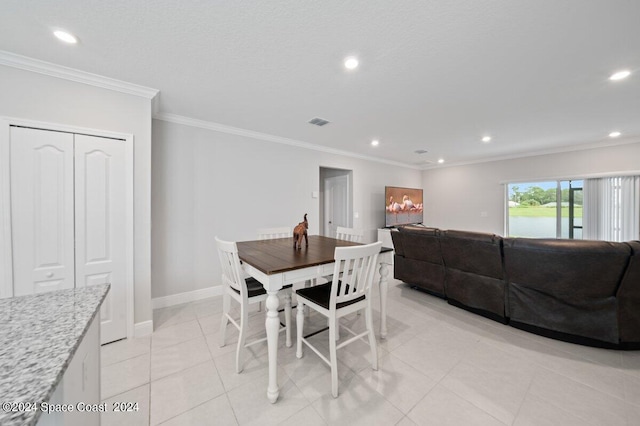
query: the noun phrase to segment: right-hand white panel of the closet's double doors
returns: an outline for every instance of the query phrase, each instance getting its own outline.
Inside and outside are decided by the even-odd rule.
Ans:
[[[76,287],[110,283],[101,341],[127,336],[125,142],[75,135]]]

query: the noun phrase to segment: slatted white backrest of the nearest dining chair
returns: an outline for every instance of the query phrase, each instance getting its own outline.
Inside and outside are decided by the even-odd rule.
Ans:
[[[336,247],[330,310],[341,303],[369,296],[381,247],[381,241],[363,246]]]

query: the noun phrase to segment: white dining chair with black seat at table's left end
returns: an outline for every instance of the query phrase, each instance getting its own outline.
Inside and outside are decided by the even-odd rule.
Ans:
[[[222,241],[216,237],[216,246],[222,266],[222,320],[220,322],[220,347],[225,346],[225,336],[227,325],[231,322],[239,331],[238,345],[236,348],[236,372],[243,369],[244,349],[264,342],[266,337],[256,339],[247,343],[247,332],[249,331],[249,305],[260,303],[267,299],[267,292],[254,278],[245,278],[238,257],[238,247],[235,242]],[[291,286],[283,287],[280,292],[284,295],[285,325],[280,328],[280,332],[286,332],[287,347],[291,346]],[[230,314],[231,299],[240,304],[239,322]]]

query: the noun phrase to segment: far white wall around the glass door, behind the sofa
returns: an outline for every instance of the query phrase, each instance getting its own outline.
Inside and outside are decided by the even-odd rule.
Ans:
[[[425,224],[504,234],[504,182],[584,178],[640,170],[640,143],[423,172]],[[482,213],[486,213],[486,217]]]

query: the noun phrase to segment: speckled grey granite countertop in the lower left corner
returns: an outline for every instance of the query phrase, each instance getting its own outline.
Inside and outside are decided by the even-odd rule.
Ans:
[[[0,299],[0,403],[49,401],[109,284]],[[5,412],[0,425],[35,424],[40,411]]]

